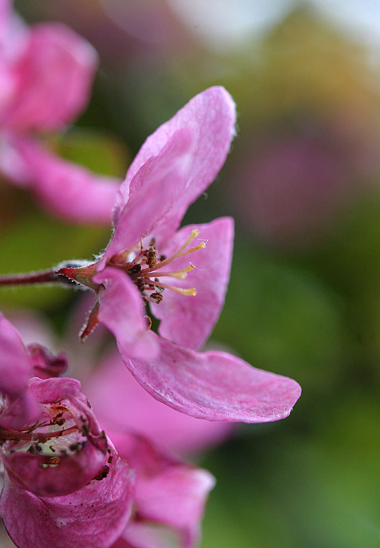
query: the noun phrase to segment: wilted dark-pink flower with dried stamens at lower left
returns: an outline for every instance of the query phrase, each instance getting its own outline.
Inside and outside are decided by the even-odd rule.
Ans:
[[[31,376],[43,351],[36,360],[34,345],[29,356],[3,316],[0,343],[0,513],[8,533],[23,548],[109,547],[129,519],[134,473],[77,380]]]

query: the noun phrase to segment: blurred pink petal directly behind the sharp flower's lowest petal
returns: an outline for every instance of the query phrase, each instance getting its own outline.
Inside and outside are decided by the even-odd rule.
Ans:
[[[116,441],[113,432],[140,432],[176,453],[195,453],[219,443],[230,433],[230,423],[195,419],[157,401],[125,368],[118,352],[102,360],[84,384],[101,426]]]

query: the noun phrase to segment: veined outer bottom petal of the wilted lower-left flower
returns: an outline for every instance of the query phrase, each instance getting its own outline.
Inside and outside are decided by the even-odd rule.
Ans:
[[[114,456],[106,477],[63,497],[36,497],[5,477],[0,512],[20,548],[108,548],[125,529],[133,488],[134,472]]]

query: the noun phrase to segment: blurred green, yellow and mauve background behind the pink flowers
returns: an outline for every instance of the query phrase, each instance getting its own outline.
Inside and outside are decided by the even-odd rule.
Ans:
[[[225,168],[186,223],[231,214],[236,245],[210,345],[299,381],[286,421],[239,425],[197,457],[218,480],[202,548],[375,548],[379,525],[380,4],[373,0],[28,0],[100,55],[92,99],[49,146],[123,177],[157,125],[207,86],[238,108]],[[0,271],[90,258],[71,225],[0,184]],[[0,292],[68,329],[77,293]],[[80,347],[78,345],[78,351]]]

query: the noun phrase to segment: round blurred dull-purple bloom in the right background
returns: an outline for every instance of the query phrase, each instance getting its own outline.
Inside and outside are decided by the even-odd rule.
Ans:
[[[246,152],[233,175],[240,186],[231,196],[246,226],[286,247],[326,236],[358,192],[370,190],[364,175],[370,140],[339,131],[339,123],[330,121],[323,137],[280,132],[255,153]]]

